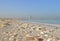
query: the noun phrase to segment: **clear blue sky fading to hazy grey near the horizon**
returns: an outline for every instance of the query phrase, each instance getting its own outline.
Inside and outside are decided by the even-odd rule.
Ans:
[[[0,17],[60,17],[60,0],[0,0]]]

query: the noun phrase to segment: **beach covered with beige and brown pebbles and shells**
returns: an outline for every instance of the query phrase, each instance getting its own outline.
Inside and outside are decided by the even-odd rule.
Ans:
[[[60,25],[0,19],[0,41],[60,41]]]

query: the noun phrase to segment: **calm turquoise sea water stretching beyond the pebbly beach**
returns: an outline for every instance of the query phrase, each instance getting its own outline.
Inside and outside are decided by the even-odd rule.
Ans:
[[[38,22],[38,23],[60,24],[60,20],[24,20],[24,21]]]

